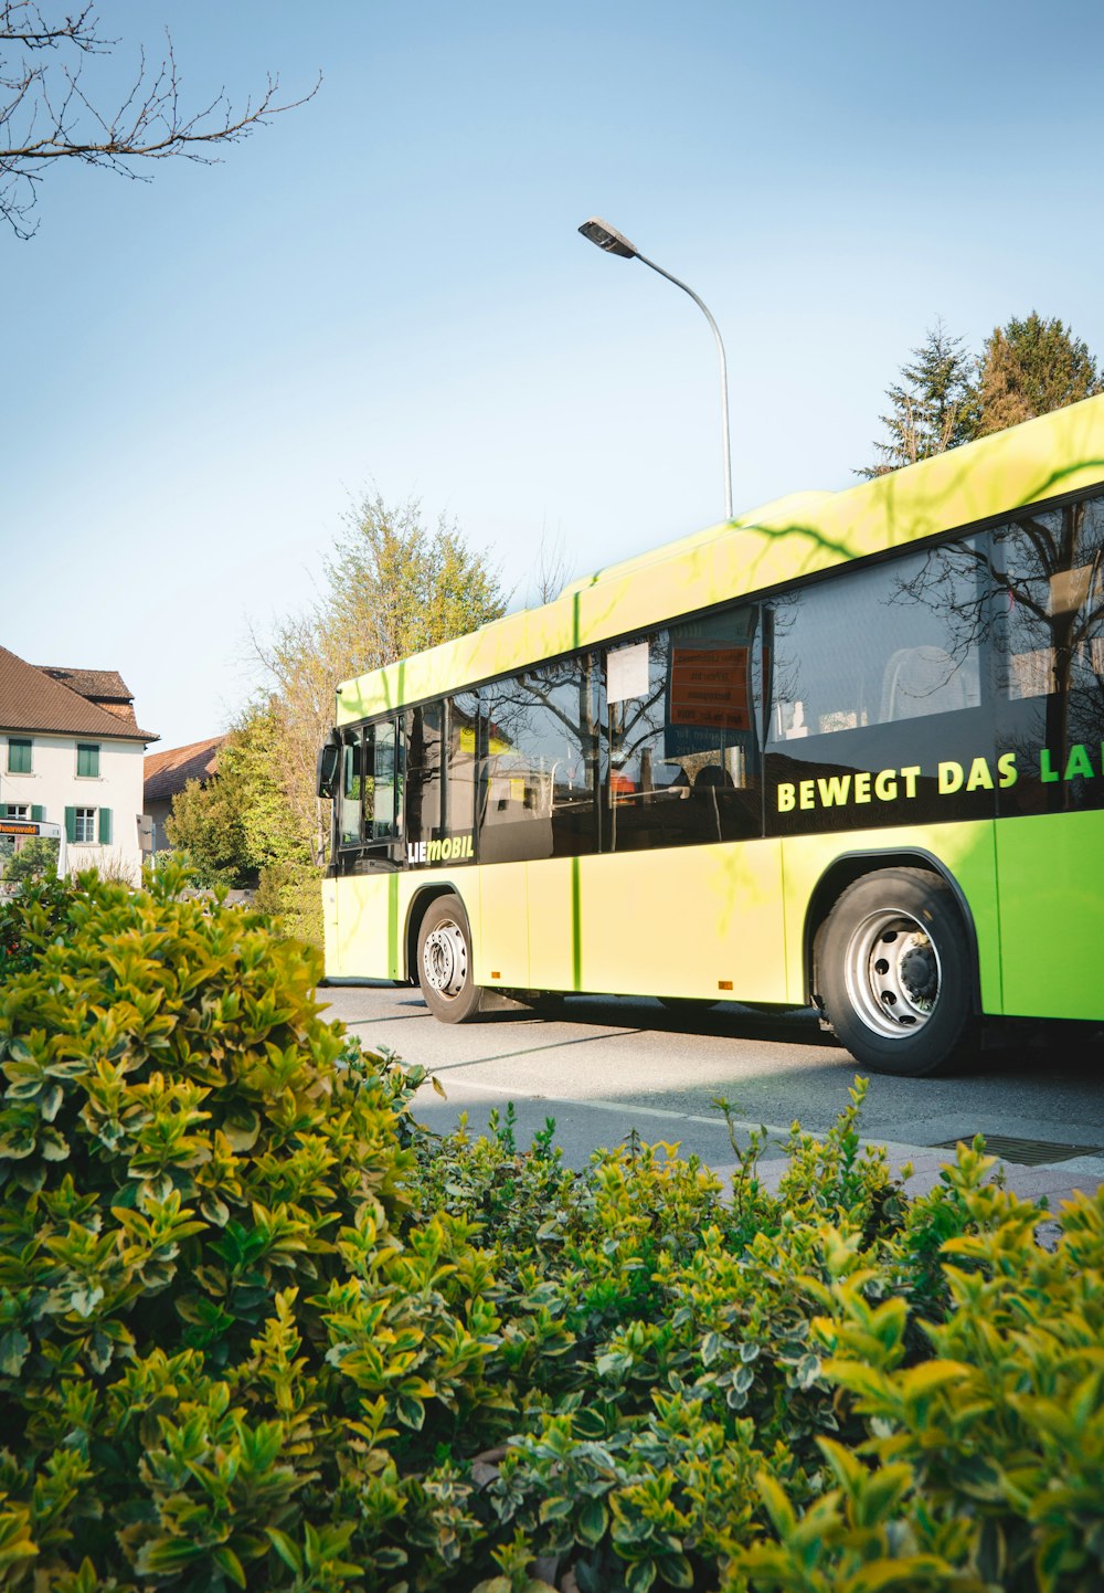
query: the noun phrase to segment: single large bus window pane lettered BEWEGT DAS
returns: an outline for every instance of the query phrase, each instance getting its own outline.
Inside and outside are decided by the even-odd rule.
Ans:
[[[768,833],[992,817],[989,588],[970,535],[773,599]]]

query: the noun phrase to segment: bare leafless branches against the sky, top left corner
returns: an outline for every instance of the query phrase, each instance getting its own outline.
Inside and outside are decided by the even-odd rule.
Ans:
[[[236,143],[280,112],[303,105],[280,99],[269,76],[260,96],[234,108],[220,91],[201,110],[180,102],[180,76],[166,35],[166,53],[151,67],[145,53],[115,110],[92,104],[81,81],[88,57],[108,56],[119,41],[99,30],[92,5],[54,14],[37,0],[0,0],[0,217],[18,237],[33,234],[38,185],[54,161],[76,159],[123,177],[148,180],[143,161],[183,156],[210,164],[221,143]]]

